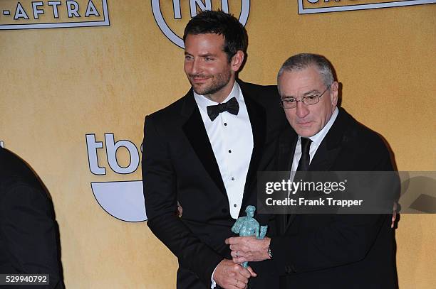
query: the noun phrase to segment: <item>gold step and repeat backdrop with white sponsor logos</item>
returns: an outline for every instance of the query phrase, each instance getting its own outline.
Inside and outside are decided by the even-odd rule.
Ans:
[[[182,31],[199,10],[249,33],[239,77],[275,84],[291,55],[325,55],[342,107],[398,170],[436,170],[436,1],[0,1],[0,146],[53,198],[67,288],[175,288],[177,259],[146,226],[144,116],[190,88]],[[403,214],[400,288],[436,283],[436,215]]]

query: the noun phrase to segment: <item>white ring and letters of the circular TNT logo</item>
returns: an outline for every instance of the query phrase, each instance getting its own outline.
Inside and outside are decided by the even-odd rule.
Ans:
[[[202,10],[209,10],[212,8],[212,0],[205,0],[205,1],[199,1],[199,0],[190,0],[190,8],[191,8],[191,16],[196,15],[195,11],[197,9],[197,5],[199,5],[199,8]],[[242,23],[243,26],[245,26],[246,21],[249,17],[250,12],[250,0],[241,0],[241,13],[239,15],[239,22]],[[172,0],[173,4],[173,12],[175,15],[175,18],[181,18],[180,13],[180,0]],[[228,0],[221,0],[222,4],[222,11],[229,13],[229,4]],[[177,34],[172,31],[170,26],[168,26],[167,22],[165,22],[164,16],[162,15],[162,10],[160,7],[160,0],[152,0],[152,12],[153,16],[155,16],[155,21],[157,23],[157,26],[159,26],[160,31],[167,36],[168,39],[175,45],[179,46],[180,48],[185,49],[185,44],[183,43],[183,39],[180,38],[180,36],[177,36]]]

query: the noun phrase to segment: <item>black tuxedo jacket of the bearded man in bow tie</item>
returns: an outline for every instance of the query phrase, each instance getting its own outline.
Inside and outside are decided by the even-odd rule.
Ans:
[[[286,120],[275,86],[244,82],[239,86],[254,138],[242,200],[244,215],[247,205],[256,205],[256,172],[266,168],[274,156],[266,148]],[[232,236],[235,220],[192,90],[146,116],[142,180],[148,227],[179,260],[177,288],[210,288],[214,268],[223,258],[231,258],[224,239]],[[177,201],[183,208],[181,218],[175,214]],[[256,215],[256,219],[261,224],[269,222],[266,215]],[[274,271],[267,261],[251,265],[259,276],[250,280],[250,288],[278,282],[278,278],[268,280],[272,275],[264,273]]]

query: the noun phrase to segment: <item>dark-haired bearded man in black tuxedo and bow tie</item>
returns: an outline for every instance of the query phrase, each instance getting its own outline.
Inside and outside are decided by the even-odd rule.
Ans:
[[[192,89],[145,118],[148,227],[178,258],[177,288],[246,288],[249,281],[252,289],[274,288],[278,278],[268,261],[243,268],[224,240],[239,212],[256,205],[256,172],[272,158],[266,148],[286,124],[276,87],[237,80],[247,36],[234,16],[199,13],[183,39]]]

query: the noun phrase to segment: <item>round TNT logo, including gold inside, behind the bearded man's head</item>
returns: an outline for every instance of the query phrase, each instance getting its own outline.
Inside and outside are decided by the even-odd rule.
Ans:
[[[221,9],[238,17],[239,22],[245,26],[249,17],[250,0],[152,0],[152,12],[157,26],[172,43],[185,48],[183,43],[183,30],[186,23],[199,11]]]

